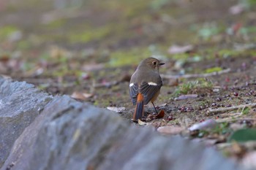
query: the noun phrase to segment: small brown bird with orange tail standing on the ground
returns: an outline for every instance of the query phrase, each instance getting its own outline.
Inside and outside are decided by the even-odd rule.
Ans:
[[[132,98],[133,105],[136,104],[135,112],[132,119],[138,120],[143,117],[144,104],[149,101],[154,106],[154,101],[159,95],[162,87],[162,78],[159,75],[160,63],[157,58],[146,58],[140,62],[129,82],[129,96]],[[156,107],[154,106],[157,112]]]

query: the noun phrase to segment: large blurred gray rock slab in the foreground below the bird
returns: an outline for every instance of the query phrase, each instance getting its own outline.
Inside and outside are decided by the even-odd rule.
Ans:
[[[68,96],[50,101],[16,140],[1,170],[239,169],[219,152],[139,128]]]

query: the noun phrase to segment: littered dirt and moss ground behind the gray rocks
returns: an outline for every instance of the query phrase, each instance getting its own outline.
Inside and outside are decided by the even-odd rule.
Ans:
[[[130,121],[129,78],[154,56],[165,62],[156,101],[165,115],[148,104],[138,125],[241,162],[255,153],[248,145],[255,136],[243,136],[250,131],[234,136],[256,124],[255,1],[45,2],[1,1],[1,74],[97,107],[124,107],[118,114]],[[188,131],[197,123],[205,124]]]

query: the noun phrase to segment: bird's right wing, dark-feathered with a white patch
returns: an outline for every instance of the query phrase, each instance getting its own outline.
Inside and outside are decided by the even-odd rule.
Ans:
[[[158,82],[143,82],[139,87],[139,92],[143,94],[144,104],[148,104],[162,86],[162,80]]]

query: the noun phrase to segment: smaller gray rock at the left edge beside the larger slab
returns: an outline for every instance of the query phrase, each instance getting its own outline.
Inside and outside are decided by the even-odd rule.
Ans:
[[[51,98],[34,85],[0,77],[0,167],[15,140]]]

